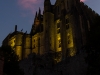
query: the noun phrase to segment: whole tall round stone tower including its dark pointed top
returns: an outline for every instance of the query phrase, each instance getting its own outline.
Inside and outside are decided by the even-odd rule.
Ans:
[[[44,1],[43,29],[45,51],[54,51],[54,14],[50,0]]]

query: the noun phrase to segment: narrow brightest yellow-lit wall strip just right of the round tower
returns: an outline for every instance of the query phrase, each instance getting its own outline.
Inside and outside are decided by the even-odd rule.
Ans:
[[[62,60],[62,44],[61,44],[61,21],[57,19],[55,21],[55,52],[56,57],[54,60],[58,63]]]

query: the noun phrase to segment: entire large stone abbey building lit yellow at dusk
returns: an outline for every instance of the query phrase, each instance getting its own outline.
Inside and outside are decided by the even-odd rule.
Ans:
[[[43,55],[57,53],[57,62],[67,56],[74,56],[88,44],[93,19],[97,16],[80,0],[44,0],[44,10],[36,12],[29,34],[15,31],[8,34],[3,45],[10,45],[20,60],[30,53]]]

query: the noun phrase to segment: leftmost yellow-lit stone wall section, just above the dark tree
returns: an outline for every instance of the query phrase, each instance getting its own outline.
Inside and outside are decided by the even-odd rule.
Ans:
[[[9,38],[8,45],[15,51],[19,56],[19,60],[22,59],[22,33],[12,33],[13,36]]]

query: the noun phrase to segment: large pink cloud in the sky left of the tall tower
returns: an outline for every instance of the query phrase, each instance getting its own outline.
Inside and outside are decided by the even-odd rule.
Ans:
[[[43,0],[18,0],[18,5],[22,9],[28,10],[32,14],[35,14],[39,7],[43,9]]]

